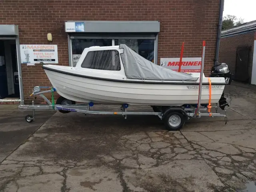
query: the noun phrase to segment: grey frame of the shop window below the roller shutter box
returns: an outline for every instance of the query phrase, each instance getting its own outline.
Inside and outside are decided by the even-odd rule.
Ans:
[[[154,64],[158,61],[158,34],[68,34],[68,63],[71,67],[73,67],[72,39],[111,39],[112,46],[115,45],[115,39],[154,39]]]

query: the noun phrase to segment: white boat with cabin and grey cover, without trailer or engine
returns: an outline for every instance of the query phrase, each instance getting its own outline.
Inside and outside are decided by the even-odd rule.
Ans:
[[[158,66],[125,44],[85,48],[75,67],[43,65],[58,94],[75,102],[140,106],[197,104],[200,73],[187,74]],[[226,85],[210,77],[211,100],[217,103]],[[209,80],[202,78],[201,103],[209,102]]]

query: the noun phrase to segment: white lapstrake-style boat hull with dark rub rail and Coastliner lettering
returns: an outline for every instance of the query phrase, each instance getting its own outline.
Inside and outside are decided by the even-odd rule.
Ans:
[[[76,102],[180,106],[198,103],[197,82],[131,80],[118,74],[94,73],[68,66],[44,65],[46,75],[58,94]],[[102,70],[100,70],[102,71]],[[211,103],[217,103],[225,86],[224,78],[210,78]],[[203,78],[201,104],[210,98],[208,78]]]

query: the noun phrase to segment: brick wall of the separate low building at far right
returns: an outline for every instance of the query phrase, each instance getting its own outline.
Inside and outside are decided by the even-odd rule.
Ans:
[[[238,46],[252,46],[249,52],[249,77],[252,77],[252,57],[254,49],[254,34],[250,32],[247,34],[240,34],[232,37],[221,38],[220,40],[220,56],[219,61],[228,64],[232,74],[236,72],[236,47]],[[251,81],[249,79],[249,82]]]

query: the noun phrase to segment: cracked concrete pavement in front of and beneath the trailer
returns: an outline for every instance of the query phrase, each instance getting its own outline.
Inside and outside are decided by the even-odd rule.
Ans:
[[[2,161],[0,191],[242,191],[256,178],[256,88],[234,83],[225,92],[228,124],[202,117],[177,132],[154,116],[56,112]]]

